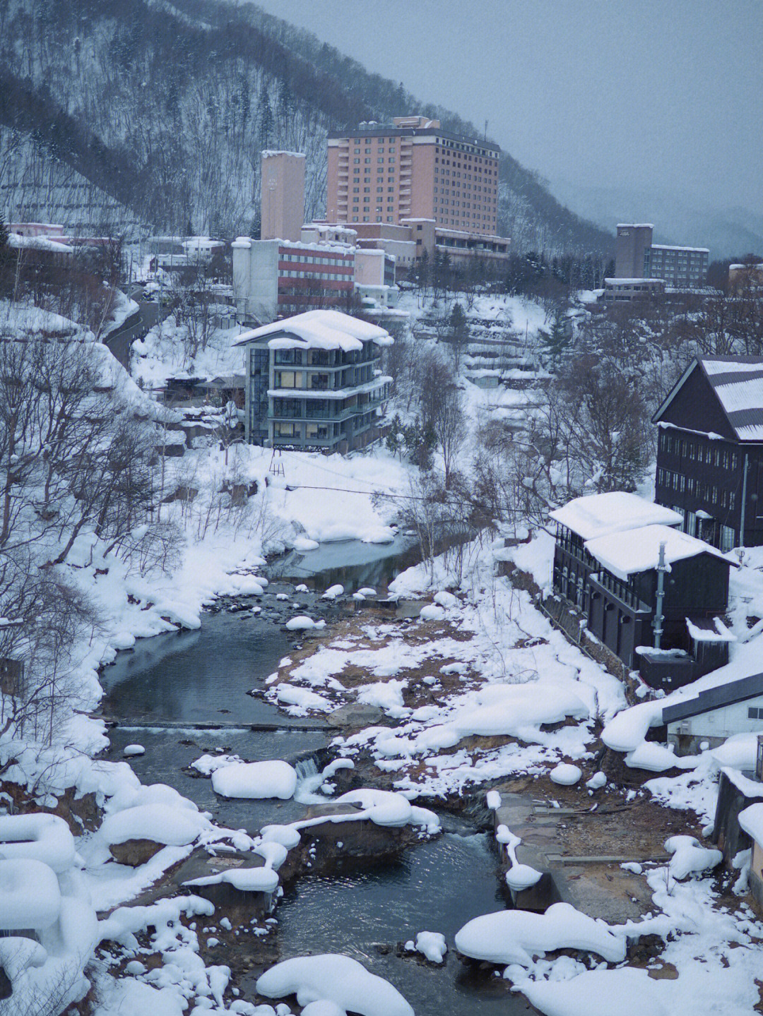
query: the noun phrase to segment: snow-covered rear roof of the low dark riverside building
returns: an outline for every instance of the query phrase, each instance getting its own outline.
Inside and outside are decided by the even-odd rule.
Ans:
[[[644,525],[680,525],[683,522],[681,515],[672,508],[656,505],[636,494],[626,494],[625,491],[575,498],[550,511],[549,516],[583,539]]]

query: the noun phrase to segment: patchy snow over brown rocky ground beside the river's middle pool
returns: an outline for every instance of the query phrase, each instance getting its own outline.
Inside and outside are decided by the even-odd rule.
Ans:
[[[283,661],[268,697],[292,701],[288,711],[299,715],[349,701],[383,709],[394,726],[371,726],[334,744],[346,755],[370,752],[405,791],[459,791],[481,780],[586,758],[594,719],[625,705],[621,683],[570,645],[527,593],[494,576],[489,545],[474,545],[473,551],[461,598],[436,592],[438,620],[405,629],[362,625],[360,635],[330,640],[297,662]],[[436,582],[444,578],[435,572]],[[398,576],[392,589],[407,594],[430,582],[419,566]],[[343,675],[359,671],[366,683],[345,686]],[[430,704],[406,707],[405,692],[422,685]],[[472,736],[504,737],[507,743],[462,749]],[[412,769],[416,778],[408,775]]]

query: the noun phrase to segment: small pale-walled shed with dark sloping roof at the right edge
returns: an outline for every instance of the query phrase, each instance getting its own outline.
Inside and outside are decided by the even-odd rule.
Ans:
[[[735,734],[763,731],[763,674],[728,681],[667,705],[662,723],[679,755],[694,754],[703,741],[715,748]]]

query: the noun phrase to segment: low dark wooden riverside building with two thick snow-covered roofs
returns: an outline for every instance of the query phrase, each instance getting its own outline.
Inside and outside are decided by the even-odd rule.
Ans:
[[[551,516],[558,526],[555,591],[647,684],[675,688],[728,661],[730,636],[718,619],[727,608],[732,563],[682,532],[680,514],[613,493],[577,498]]]

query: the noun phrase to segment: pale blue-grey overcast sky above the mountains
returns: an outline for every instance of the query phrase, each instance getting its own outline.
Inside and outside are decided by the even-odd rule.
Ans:
[[[763,0],[259,3],[552,183],[763,212]]]

